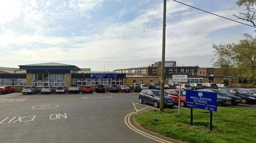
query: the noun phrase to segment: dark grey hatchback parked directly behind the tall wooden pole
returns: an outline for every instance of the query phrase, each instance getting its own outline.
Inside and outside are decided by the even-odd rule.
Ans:
[[[159,90],[142,90],[139,94],[139,103],[150,103],[153,104],[156,108],[159,107],[160,103],[160,91]],[[174,99],[164,93],[164,106],[173,107]]]

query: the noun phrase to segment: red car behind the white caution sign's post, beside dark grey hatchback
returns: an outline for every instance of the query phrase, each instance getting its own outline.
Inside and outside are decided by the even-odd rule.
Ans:
[[[166,89],[164,92],[170,96],[173,97],[174,103],[179,104],[179,90],[178,89]],[[186,106],[186,91],[180,90],[180,106],[185,107]]]

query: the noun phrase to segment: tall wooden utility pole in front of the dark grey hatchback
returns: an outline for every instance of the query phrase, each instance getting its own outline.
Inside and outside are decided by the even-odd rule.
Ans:
[[[164,0],[163,12],[163,43],[162,43],[162,66],[161,66],[161,88],[160,88],[160,111],[164,111],[164,62],[165,62],[165,24],[166,23],[166,0]]]

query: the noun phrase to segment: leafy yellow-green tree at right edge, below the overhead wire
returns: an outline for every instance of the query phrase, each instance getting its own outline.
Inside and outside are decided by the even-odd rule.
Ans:
[[[244,34],[238,44],[212,44],[215,55],[230,61],[239,77],[256,83],[256,37]]]

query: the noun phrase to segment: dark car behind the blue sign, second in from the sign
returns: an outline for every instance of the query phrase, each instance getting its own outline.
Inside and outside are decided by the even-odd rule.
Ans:
[[[223,96],[223,97],[229,98],[231,100],[232,105],[237,105],[239,103],[242,103],[240,97],[230,95],[229,93],[227,93],[225,91],[222,91],[222,90],[219,90],[219,89],[207,89],[207,91],[216,92],[218,94],[218,96]]]

